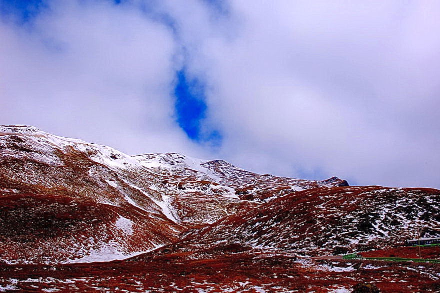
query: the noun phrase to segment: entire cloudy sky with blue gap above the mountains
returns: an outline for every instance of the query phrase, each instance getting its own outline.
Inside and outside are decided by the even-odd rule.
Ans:
[[[0,124],[440,188],[440,2],[0,0]]]

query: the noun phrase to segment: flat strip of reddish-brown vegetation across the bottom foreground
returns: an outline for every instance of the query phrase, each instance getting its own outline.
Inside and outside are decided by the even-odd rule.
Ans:
[[[153,257],[153,256],[151,256]],[[319,264],[320,263],[320,264]],[[420,268],[407,269],[395,263],[379,263],[362,268],[360,262],[326,262],[333,268],[357,267],[349,271],[326,271],[304,267],[296,258],[262,254],[227,253],[191,260],[185,254],[155,256],[143,261],[68,264],[54,266],[0,266],[4,279],[17,279],[14,287],[22,292],[320,292],[331,288],[352,288],[359,282],[374,283],[382,293],[435,292],[439,282]],[[426,268],[429,269],[429,268]],[[423,268],[421,269],[423,270]],[[399,282],[405,280],[405,282]],[[126,292],[125,291],[125,292]]]

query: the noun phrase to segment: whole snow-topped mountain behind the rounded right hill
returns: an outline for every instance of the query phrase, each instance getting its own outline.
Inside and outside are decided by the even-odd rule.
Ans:
[[[0,126],[0,260],[121,259],[190,229],[310,188],[347,185],[259,175],[181,154],[110,147]]]

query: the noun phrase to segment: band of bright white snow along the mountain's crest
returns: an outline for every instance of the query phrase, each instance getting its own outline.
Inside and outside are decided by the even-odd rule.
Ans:
[[[56,156],[53,155],[54,150],[77,151],[86,154],[96,163],[105,165],[110,169],[129,169],[129,168],[146,168],[150,171],[166,170],[169,172],[186,172],[191,170],[201,180],[209,180],[220,183],[222,180],[236,179],[240,177],[264,176],[252,173],[224,161],[224,160],[203,160],[192,158],[179,153],[151,153],[143,155],[130,156],[124,154],[109,146],[88,143],[80,139],[66,138],[49,134],[41,131],[36,127],[29,125],[0,125],[0,137],[7,135],[15,135],[18,137],[26,137],[32,147],[39,150],[40,154],[34,153],[33,159],[44,161],[49,164],[60,164]],[[14,155],[10,153],[9,155]],[[279,178],[279,177],[275,177]],[[292,178],[285,178],[292,179]],[[298,187],[296,183],[316,182],[321,186],[331,187],[337,186],[337,177],[332,177],[323,181],[307,181],[293,179],[292,186]],[[224,182],[223,182],[224,183]],[[302,188],[302,186],[299,186]],[[295,189],[293,189],[295,190]]]

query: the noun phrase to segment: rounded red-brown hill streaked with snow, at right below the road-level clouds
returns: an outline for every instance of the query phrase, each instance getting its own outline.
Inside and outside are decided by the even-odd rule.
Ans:
[[[440,190],[335,187],[304,190],[228,216],[176,244],[185,251],[241,245],[302,255],[339,254],[440,236]]]

